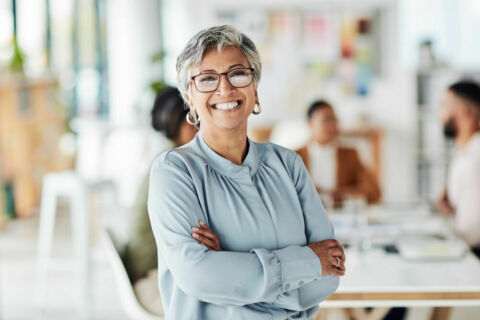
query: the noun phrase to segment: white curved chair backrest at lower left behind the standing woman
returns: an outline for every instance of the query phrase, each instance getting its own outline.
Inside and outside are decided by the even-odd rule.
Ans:
[[[122,246],[113,231],[106,228],[103,232],[103,238],[108,259],[112,265],[120,300],[127,316],[135,320],[163,320],[162,317],[147,311],[137,300],[122,260]]]

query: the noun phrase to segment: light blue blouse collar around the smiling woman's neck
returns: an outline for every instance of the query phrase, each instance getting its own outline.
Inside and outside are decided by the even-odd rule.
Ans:
[[[208,146],[202,137],[201,132],[195,136],[195,142],[199,146],[201,152],[207,158],[207,164],[216,169],[220,174],[230,176],[232,178],[251,177],[255,174],[258,167],[258,156],[255,150],[255,143],[247,138],[247,156],[243,163],[238,165],[228,159],[220,156]]]

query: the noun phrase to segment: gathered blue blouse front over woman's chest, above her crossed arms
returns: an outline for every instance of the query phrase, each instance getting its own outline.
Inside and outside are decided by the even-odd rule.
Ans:
[[[248,252],[306,242],[295,186],[285,172],[235,179],[206,170],[200,203],[223,249]]]

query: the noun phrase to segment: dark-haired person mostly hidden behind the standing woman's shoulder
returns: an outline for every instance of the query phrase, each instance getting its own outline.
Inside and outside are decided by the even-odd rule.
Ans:
[[[187,113],[178,89],[166,88],[157,95],[151,111],[152,127],[170,140],[169,148],[189,142],[197,133],[195,127],[187,124]],[[158,150],[159,153],[163,151]],[[140,303],[150,312],[161,315],[162,304],[156,280],[157,246],[147,211],[148,182],[147,175],[139,189],[131,217],[124,261]]]

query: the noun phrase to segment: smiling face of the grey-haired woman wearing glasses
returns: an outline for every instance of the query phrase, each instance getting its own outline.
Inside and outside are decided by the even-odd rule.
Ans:
[[[242,51],[225,47],[218,52],[214,47],[205,52],[200,65],[192,67],[190,74],[195,76],[208,72],[223,73],[239,68],[250,68]],[[199,115],[202,131],[246,133],[248,116],[257,101],[257,90],[253,81],[244,88],[232,87],[226,76],[222,75],[218,88],[212,92],[199,92],[191,81],[186,99],[192,112]]]

